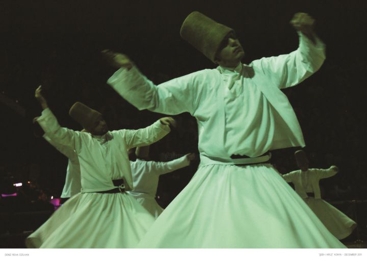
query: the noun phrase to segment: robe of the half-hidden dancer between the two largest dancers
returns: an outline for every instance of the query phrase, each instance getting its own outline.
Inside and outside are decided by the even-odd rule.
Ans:
[[[155,201],[160,175],[173,172],[190,165],[187,155],[169,162],[130,161],[134,190],[127,193],[133,196],[147,211],[158,218],[163,208]]]

